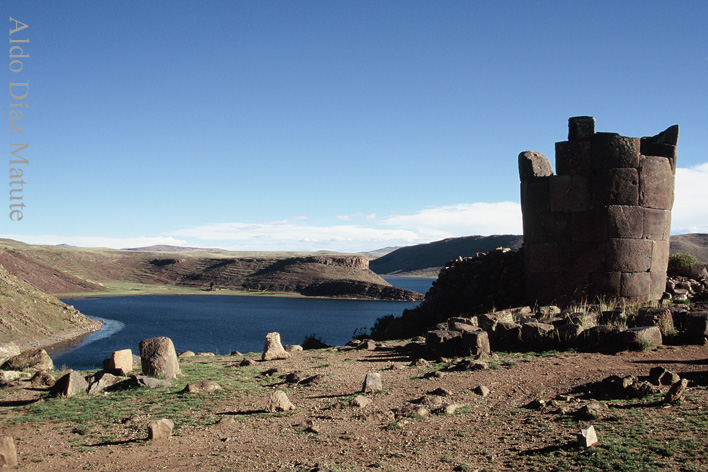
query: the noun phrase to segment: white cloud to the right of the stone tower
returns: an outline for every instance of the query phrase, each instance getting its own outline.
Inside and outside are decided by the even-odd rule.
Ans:
[[[676,169],[673,234],[708,233],[708,162]]]

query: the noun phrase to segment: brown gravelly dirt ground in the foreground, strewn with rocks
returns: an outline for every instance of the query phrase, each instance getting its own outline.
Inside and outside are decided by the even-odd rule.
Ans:
[[[602,470],[611,462],[602,462],[605,459],[600,456],[611,460],[609,455],[620,450],[618,437],[628,441],[631,437],[632,444],[640,436],[652,444],[657,440],[673,444],[676,433],[671,428],[647,432],[646,426],[681,423],[696,415],[705,418],[708,409],[707,346],[617,354],[499,353],[498,359],[490,362],[492,368],[474,371],[445,371],[447,364],[434,360],[428,366],[413,366],[416,356],[401,346],[296,352],[291,359],[259,361],[252,367],[240,367],[243,357],[238,356],[185,359],[184,365],[211,362],[226,369],[257,370],[253,382],[258,388],[229,391],[224,387],[227,394],[222,392],[219,402],[210,407],[213,421],[188,424],[180,421],[183,412],[173,418],[174,435],[161,441],[147,440],[147,423],[154,418],[137,406],[135,416],[106,427],[111,440],[93,439],[82,435],[76,425],[56,421],[13,424],[6,420],[22,414],[18,406],[44,393],[5,390],[0,392],[0,435],[14,438],[20,469],[27,471],[564,470],[563,464],[573,464],[575,456],[590,454],[576,446],[575,435],[592,424],[600,446],[592,448],[597,457],[588,459],[597,465],[587,470]],[[683,401],[665,405],[655,401],[663,395],[655,395],[651,401],[607,402],[601,417],[573,419],[573,413],[590,400],[579,387],[611,375],[646,376],[654,366],[689,379]],[[261,375],[274,368],[277,373]],[[425,378],[436,370],[444,374]],[[279,378],[293,372],[302,373],[302,377],[322,374],[324,379],[303,386],[289,385]],[[366,395],[372,403],[364,408],[350,406],[369,372],[381,374],[383,390]],[[480,385],[489,388],[488,396],[474,392]],[[440,388],[449,395],[429,394]],[[264,412],[268,392],[276,389],[286,392],[296,406],[294,411]],[[431,409],[440,404],[433,397],[459,408],[452,414],[411,413],[411,408],[416,408],[411,402],[423,397],[427,397],[424,404],[433,405]],[[534,400],[553,399],[556,402],[546,408],[525,408]],[[699,445],[695,456],[679,449],[673,456],[661,456],[658,463],[663,467],[645,469],[705,470],[708,431],[706,424],[696,424],[692,429],[680,429],[682,440]],[[644,429],[636,429],[639,426]],[[643,443],[636,448],[643,449]]]

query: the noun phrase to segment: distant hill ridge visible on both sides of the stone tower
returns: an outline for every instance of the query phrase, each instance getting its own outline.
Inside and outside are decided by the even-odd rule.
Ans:
[[[466,236],[443,239],[428,244],[407,246],[372,260],[371,270],[379,275],[437,277],[446,262],[458,256],[473,256],[498,247],[519,249],[521,235]],[[708,234],[692,233],[671,236],[671,253],[687,252],[708,264]]]

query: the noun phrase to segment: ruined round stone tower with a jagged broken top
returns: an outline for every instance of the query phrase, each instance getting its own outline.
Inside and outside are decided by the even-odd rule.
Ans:
[[[678,125],[628,138],[595,133],[593,117],[568,122],[568,141],[556,143],[556,175],[544,155],[519,155],[527,298],[661,298]]]

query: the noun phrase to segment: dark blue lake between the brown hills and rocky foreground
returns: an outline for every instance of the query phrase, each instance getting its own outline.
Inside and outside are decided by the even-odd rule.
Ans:
[[[401,288],[425,293],[433,279],[387,277]],[[132,349],[154,336],[172,339],[177,352],[260,352],[265,335],[280,333],[283,345],[314,334],[333,346],[350,341],[377,318],[400,315],[418,302],[330,300],[235,295],[141,295],[63,299],[81,313],[105,320],[80,344],[50,351],[57,368],[100,369],[113,351]]]

